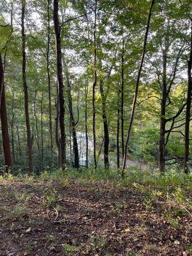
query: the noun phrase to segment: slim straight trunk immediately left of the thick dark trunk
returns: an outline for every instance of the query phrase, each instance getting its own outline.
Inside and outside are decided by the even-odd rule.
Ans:
[[[51,77],[49,72],[49,49],[50,49],[50,2],[47,0],[47,79],[49,93],[49,132],[51,139],[51,169],[53,167],[53,140],[52,140],[52,111],[51,111]]]

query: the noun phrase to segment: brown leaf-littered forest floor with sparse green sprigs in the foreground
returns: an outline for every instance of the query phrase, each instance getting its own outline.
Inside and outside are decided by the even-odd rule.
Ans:
[[[0,255],[191,255],[191,191],[158,186],[1,178]]]

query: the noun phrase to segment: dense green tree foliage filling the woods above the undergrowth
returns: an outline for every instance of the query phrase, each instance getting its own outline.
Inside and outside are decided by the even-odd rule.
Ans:
[[[115,167],[117,164],[119,168],[123,157],[127,157],[125,139],[138,67],[146,47],[128,158],[144,161],[152,169],[160,161],[161,171],[164,163],[185,164],[189,172],[191,1],[157,0],[151,6],[151,1],[146,0],[60,0],[59,24],[55,19],[56,2],[3,0],[0,3],[0,53],[13,171],[28,171],[29,140],[35,173],[65,165],[96,168],[98,164],[103,166],[103,162],[106,170],[109,164]],[[61,74],[57,64],[57,33],[61,38]],[[143,47],[145,38],[147,45]],[[28,140],[24,60],[28,132],[31,131]],[[2,88],[3,83],[1,92]],[[65,116],[60,115],[62,104]],[[1,120],[1,128],[5,122]],[[62,140],[66,140],[64,149]],[[62,150],[66,150],[66,161]],[[0,157],[4,170],[3,132]]]

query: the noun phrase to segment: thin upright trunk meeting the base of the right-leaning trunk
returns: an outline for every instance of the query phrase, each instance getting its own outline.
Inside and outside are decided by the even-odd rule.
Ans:
[[[122,88],[121,88],[121,123],[122,123],[122,157],[124,157],[124,37],[122,43]]]

